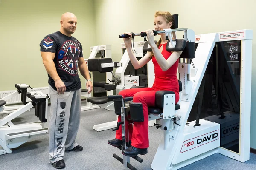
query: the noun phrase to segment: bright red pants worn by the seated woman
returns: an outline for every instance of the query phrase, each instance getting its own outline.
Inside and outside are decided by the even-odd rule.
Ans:
[[[129,125],[129,140],[131,145],[136,148],[148,148],[148,106],[155,106],[155,93],[157,90],[152,88],[132,88],[119,92],[123,97],[132,97],[133,102],[142,103],[144,122],[134,122],[134,126]],[[179,95],[175,95],[175,103],[179,100]],[[121,116],[118,116],[118,122],[121,122]],[[126,125],[128,121],[125,122]],[[127,127],[126,127],[127,128]],[[122,127],[116,130],[116,139],[122,140]]]

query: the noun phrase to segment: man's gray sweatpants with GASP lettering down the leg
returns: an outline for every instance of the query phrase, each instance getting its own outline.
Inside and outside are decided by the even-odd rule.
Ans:
[[[52,164],[63,159],[65,150],[78,145],[75,140],[81,117],[81,89],[58,94],[50,86],[50,100],[49,159]]]

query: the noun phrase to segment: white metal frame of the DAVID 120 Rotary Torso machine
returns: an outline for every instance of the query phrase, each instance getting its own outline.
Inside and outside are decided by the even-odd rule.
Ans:
[[[179,69],[180,74],[184,75],[183,91],[180,92],[180,109],[174,111],[174,109],[169,108],[167,111],[165,109],[167,106],[164,108],[160,125],[162,125],[161,129],[166,127],[167,130],[163,129],[163,139],[151,164],[153,170],[177,170],[215,153],[221,153],[240,162],[249,160],[252,33],[252,30],[238,30],[195,36],[195,42],[198,42],[195,58],[193,59],[196,69],[190,69],[188,66],[190,64],[180,63],[185,68]],[[215,42],[230,40],[241,40],[239,153],[220,147],[220,124],[200,119],[201,126],[194,127],[195,122],[189,122],[186,125]],[[154,70],[152,66],[149,65],[148,71]],[[190,79],[188,79],[188,73],[192,72],[193,74],[190,74]],[[148,72],[148,74],[152,78],[152,72]],[[168,100],[165,99],[164,103],[173,102],[171,97]],[[170,119],[173,116],[177,117],[177,123],[180,126],[173,124],[172,119]],[[152,115],[152,119],[157,118]]]

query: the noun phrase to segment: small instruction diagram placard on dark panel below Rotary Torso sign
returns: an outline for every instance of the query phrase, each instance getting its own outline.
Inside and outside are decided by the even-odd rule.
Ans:
[[[239,42],[227,42],[227,61],[228,62],[239,62]]]

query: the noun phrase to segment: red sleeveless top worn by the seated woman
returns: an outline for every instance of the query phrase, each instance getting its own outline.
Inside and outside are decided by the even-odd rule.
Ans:
[[[159,48],[163,46],[162,55],[165,59],[168,59],[172,52],[166,50],[166,44],[160,44]],[[163,71],[160,68],[159,64],[157,63],[156,58],[152,57],[152,62],[154,64],[154,73],[155,73],[155,80],[153,84],[154,90],[168,90],[175,92],[175,102],[179,100],[179,82],[177,79],[177,70],[179,65],[179,59],[170,67],[168,70]],[[178,98],[177,98],[178,97]]]

